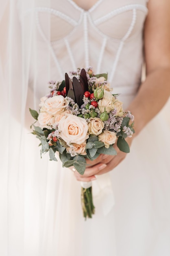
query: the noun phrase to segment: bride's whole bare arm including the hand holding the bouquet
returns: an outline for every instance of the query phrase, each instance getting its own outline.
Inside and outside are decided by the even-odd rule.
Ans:
[[[149,0],[148,9],[144,26],[146,80],[128,107],[135,116],[135,136],[157,115],[170,95],[170,1]],[[132,138],[127,141],[131,144]],[[100,155],[93,162],[87,160],[87,164],[93,166],[86,168],[83,176],[75,172],[77,180],[89,181],[94,175],[116,167],[126,154],[114,147],[118,152],[116,156]]]

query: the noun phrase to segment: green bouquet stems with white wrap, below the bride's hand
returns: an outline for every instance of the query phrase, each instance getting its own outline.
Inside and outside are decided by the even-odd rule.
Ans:
[[[92,182],[81,182],[81,205],[84,218],[92,218],[95,212],[92,197]]]

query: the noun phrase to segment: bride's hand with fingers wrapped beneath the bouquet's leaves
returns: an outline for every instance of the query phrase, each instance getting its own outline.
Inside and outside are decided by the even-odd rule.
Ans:
[[[130,146],[132,138],[127,137],[126,141]],[[126,157],[126,153],[120,151],[116,144],[113,147],[117,151],[117,155],[101,154],[97,159],[93,161],[86,159],[87,168],[85,169],[85,173],[80,175],[77,171],[74,171],[76,179],[78,181],[88,182],[95,180],[95,175],[100,175],[113,170]]]

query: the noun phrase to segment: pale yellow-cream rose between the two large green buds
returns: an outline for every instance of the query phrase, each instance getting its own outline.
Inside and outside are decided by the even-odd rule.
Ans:
[[[104,90],[103,98],[98,101],[98,108],[100,109],[100,112],[103,113],[105,110],[107,113],[111,112],[115,108],[114,100],[115,98],[113,95]]]

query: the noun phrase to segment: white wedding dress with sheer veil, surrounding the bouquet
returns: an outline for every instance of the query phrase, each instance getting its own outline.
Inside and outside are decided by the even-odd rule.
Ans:
[[[113,93],[128,108],[141,83],[147,0],[98,0],[88,11],[72,0],[18,0],[9,13],[0,255],[169,256],[169,127],[161,113],[134,139],[126,159],[93,181],[96,213],[86,221],[80,183],[60,162],[40,158],[29,128],[28,108],[38,110],[48,81],[62,81],[77,67],[108,72]]]

